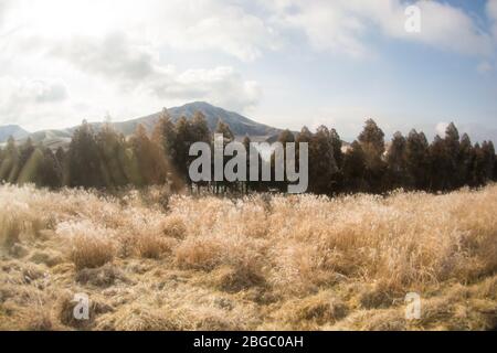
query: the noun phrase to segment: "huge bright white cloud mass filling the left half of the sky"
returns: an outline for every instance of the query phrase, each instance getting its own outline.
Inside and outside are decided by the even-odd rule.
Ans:
[[[191,100],[244,111],[260,99],[256,82],[232,66],[205,67],[201,61],[200,67],[179,69],[160,53],[165,46],[186,55],[218,50],[250,61],[274,46],[256,17],[216,1],[144,0],[137,7],[130,0],[19,0],[4,24],[17,30],[0,38],[0,125],[31,129],[99,119],[107,110],[128,119]],[[45,76],[64,77],[71,97],[35,78]],[[55,100],[57,95],[66,99]]]

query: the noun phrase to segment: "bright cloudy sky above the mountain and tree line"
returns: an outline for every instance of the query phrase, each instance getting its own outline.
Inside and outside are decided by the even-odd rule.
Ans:
[[[497,0],[0,0],[0,126],[194,100],[349,140],[373,118],[497,141]]]

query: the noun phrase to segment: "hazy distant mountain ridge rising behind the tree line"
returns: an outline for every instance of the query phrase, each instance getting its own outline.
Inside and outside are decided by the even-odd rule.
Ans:
[[[181,107],[170,108],[168,109],[168,111],[175,122],[178,121],[178,119],[182,116],[191,119],[197,111],[200,111],[205,116],[208,126],[211,131],[214,131],[219,120],[222,120],[230,126],[230,129],[237,137],[237,139],[242,139],[244,136],[248,135],[253,141],[273,140],[275,139],[275,136],[279,135],[279,132],[282,131],[281,129],[256,122],[237,113],[229,111],[204,101],[190,103]],[[136,128],[140,124],[147,129],[147,131],[151,132],[159,117],[160,113],[155,113],[137,119],[112,122],[112,125],[114,126],[116,131],[125,136],[130,136],[133,132],[135,132]],[[91,122],[91,125],[96,131],[98,131],[102,128],[103,122]],[[77,129],[77,127],[72,127],[62,130],[42,130],[29,133],[28,131],[22,130],[20,127],[17,128],[20,129],[18,133],[14,135],[14,138],[17,140],[24,140],[28,137],[31,137],[33,142],[43,143],[47,147],[51,147],[52,149],[56,149],[60,146],[67,146],[68,142],[71,142],[74,130]],[[2,136],[2,131],[4,131],[6,141],[10,135],[13,135],[12,132],[15,132],[13,128],[0,127],[0,137]],[[0,139],[0,143],[1,142],[2,140]]]

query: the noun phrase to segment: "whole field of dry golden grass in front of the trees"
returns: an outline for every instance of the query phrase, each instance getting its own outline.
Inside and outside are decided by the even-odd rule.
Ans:
[[[497,185],[161,200],[1,185],[0,329],[497,327]],[[86,322],[75,293],[91,299]]]

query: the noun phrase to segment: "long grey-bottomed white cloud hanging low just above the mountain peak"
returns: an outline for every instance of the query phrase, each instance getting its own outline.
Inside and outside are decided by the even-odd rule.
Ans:
[[[57,45],[51,55],[128,93],[140,90],[165,99],[209,100],[239,111],[254,106],[261,96],[258,84],[245,81],[231,66],[179,72],[173,65],[159,63],[157,55],[121,34],[98,41],[75,38],[70,45]]]

